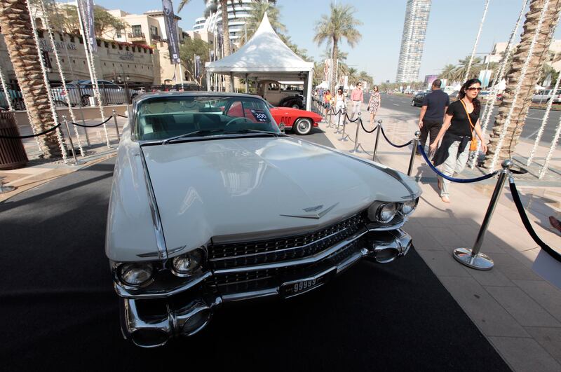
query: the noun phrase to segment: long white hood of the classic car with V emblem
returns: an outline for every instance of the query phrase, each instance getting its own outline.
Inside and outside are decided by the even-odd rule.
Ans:
[[[297,232],[374,200],[403,201],[419,193],[414,181],[393,170],[291,137],[143,146],[142,153],[168,252],[200,247],[211,237]]]

